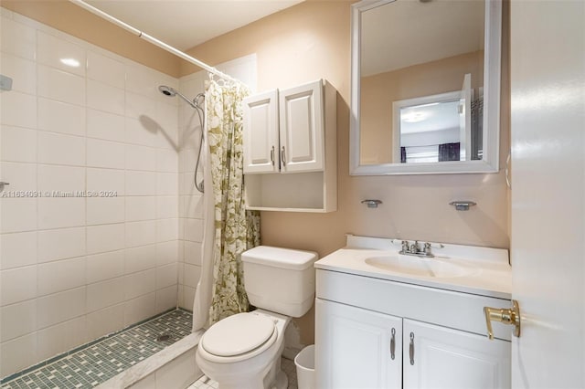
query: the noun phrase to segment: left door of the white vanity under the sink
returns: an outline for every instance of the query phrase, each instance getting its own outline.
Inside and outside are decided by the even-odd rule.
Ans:
[[[315,309],[315,387],[400,387],[400,318],[319,299]]]

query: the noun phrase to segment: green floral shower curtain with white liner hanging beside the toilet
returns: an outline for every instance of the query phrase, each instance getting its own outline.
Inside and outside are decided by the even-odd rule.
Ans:
[[[206,174],[210,180],[206,182],[212,183],[213,192],[206,191],[204,201],[213,202],[213,208],[206,206],[209,217],[194,306],[195,331],[249,309],[240,255],[260,244],[260,213],[246,211],[244,204],[241,101],[248,94],[249,90],[239,83],[220,85],[212,79],[207,84]],[[208,303],[207,316],[203,310]]]

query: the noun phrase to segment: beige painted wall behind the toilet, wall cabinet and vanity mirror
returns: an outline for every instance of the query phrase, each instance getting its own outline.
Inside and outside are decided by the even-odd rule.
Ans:
[[[509,247],[508,198],[503,172],[384,177],[349,175],[350,1],[309,1],[268,16],[189,50],[217,64],[258,56],[259,91],[328,79],[337,89],[338,211],[330,214],[262,212],[262,244],[315,250],[327,255],[345,234],[399,237],[489,247]],[[506,35],[507,37],[507,35]],[[507,49],[507,46],[506,46]],[[505,52],[504,64],[508,56]],[[191,70],[183,68],[182,74]],[[508,149],[507,70],[502,95],[501,158]],[[360,204],[378,198],[370,209]],[[448,203],[477,202],[468,212]],[[314,312],[302,320],[302,342],[313,342]]]

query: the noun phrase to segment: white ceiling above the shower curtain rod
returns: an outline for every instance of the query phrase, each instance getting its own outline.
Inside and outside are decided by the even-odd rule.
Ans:
[[[303,0],[86,0],[122,22],[185,51]]]

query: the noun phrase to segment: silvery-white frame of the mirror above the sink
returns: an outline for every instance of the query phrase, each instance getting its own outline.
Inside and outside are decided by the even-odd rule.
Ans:
[[[349,174],[497,173],[500,144],[500,74],[502,58],[502,1],[485,0],[484,25],[484,159],[441,163],[360,164],[360,41],[361,14],[396,0],[364,0],[351,10],[351,101]],[[391,123],[390,123],[391,124]],[[389,125],[389,124],[388,124]]]

